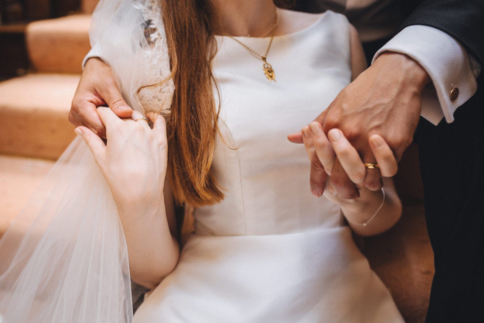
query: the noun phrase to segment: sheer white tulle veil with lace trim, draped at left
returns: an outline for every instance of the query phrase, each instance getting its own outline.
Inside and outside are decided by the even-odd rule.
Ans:
[[[127,103],[169,110],[174,86],[159,0],[101,0],[91,46]],[[15,183],[13,184],[15,185]],[[0,322],[132,322],[121,220],[81,138],[61,155],[0,240]]]

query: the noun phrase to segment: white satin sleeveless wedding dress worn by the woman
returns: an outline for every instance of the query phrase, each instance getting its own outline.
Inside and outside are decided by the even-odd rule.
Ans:
[[[340,208],[309,191],[309,161],[286,136],[313,120],[351,80],[350,29],[328,11],[274,37],[262,61],[217,36],[221,94],[213,160],[226,191],[195,210],[180,262],[135,313],[136,323],[403,322],[351,237]],[[239,38],[264,52],[268,38]]]

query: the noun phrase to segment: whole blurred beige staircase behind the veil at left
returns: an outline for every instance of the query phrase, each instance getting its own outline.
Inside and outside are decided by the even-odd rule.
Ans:
[[[26,25],[34,73],[0,82],[0,236],[75,138],[68,115],[98,0],[81,13]]]

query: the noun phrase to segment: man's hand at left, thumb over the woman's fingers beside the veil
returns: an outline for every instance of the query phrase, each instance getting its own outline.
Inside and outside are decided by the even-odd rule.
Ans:
[[[100,106],[108,106],[120,118],[129,118],[133,113],[121,96],[111,67],[93,57],[84,66],[72,100],[69,121],[76,127],[87,126],[96,135],[106,138],[106,127],[96,110]]]

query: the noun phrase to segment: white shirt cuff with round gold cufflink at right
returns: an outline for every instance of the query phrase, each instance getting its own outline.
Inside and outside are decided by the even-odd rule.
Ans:
[[[453,122],[454,111],[477,90],[476,77],[482,66],[475,60],[471,62],[467,50],[439,29],[408,26],[378,50],[373,62],[384,51],[406,54],[427,71],[432,83],[422,93],[422,116],[435,125],[443,117]]]

